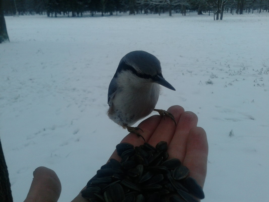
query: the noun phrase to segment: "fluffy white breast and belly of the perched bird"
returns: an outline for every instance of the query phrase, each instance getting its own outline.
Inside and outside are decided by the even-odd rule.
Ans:
[[[157,104],[160,85],[151,79],[140,78],[131,71],[122,71],[117,77],[118,88],[108,116],[123,128],[132,126],[149,115]]]

